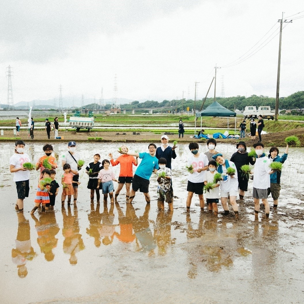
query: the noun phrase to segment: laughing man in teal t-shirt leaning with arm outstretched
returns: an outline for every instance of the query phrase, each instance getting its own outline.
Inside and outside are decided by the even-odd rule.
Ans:
[[[139,189],[140,192],[143,192],[145,195],[146,202],[150,204],[150,195],[149,195],[149,184],[150,177],[152,172],[156,174],[158,170],[158,159],[155,156],[156,145],[154,143],[150,143],[148,146],[149,153],[131,153],[126,152],[123,154],[133,155],[141,158],[141,163],[138,165],[133,181],[132,181],[132,189],[130,192],[129,203],[132,203],[136,191]]]

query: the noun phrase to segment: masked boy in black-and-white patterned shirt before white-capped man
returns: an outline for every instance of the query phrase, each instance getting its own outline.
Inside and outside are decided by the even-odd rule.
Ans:
[[[171,190],[171,169],[166,167],[167,160],[161,157],[158,160],[159,169],[157,171],[157,193],[158,203],[164,210],[164,201],[168,203],[169,209],[173,211],[173,192]]]

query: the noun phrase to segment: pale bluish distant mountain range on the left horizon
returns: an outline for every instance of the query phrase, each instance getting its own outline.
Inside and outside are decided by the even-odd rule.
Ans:
[[[120,105],[122,104],[129,104],[131,102],[133,102],[133,99],[126,99],[126,98],[119,98],[118,99],[118,103]],[[139,102],[145,102],[146,100],[137,100]],[[92,104],[94,103],[94,98],[84,98],[83,100],[84,105],[88,105],[88,104]],[[99,105],[99,99],[95,99],[95,102]],[[106,104],[111,104],[113,102],[113,99],[104,99],[103,103]],[[81,107],[82,104],[82,99],[81,98],[69,98],[69,99],[62,99],[62,105],[63,108],[79,108]],[[25,101],[21,101],[21,102],[17,102],[15,103],[15,109],[27,109],[28,106],[33,106],[33,109],[40,109],[40,110],[47,110],[47,109],[58,109],[59,108],[59,100],[58,98],[56,98],[56,100],[54,99],[48,99],[48,100],[32,100],[30,102],[25,102]],[[0,104],[0,108],[7,108],[6,104]]]

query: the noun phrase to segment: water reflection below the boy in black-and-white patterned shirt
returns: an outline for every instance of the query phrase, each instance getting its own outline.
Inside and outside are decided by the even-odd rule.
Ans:
[[[162,210],[157,213],[153,237],[156,241],[159,255],[165,255],[167,253],[167,247],[175,243],[171,239],[172,215],[173,210],[168,210],[168,212]]]

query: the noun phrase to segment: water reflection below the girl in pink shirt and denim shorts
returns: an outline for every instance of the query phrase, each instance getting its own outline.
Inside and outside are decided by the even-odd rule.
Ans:
[[[103,204],[102,213],[102,225],[98,228],[100,237],[103,237],[102,244],[109,245],[112,244],[114,238],[115,227],[114,222],[114,204],[111,204],[110,211],[108,211],[108,205],[105,202]]]

